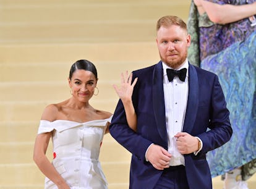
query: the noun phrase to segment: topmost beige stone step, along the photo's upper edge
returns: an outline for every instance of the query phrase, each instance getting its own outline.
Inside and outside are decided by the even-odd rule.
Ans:
[[[23,1],[22,1],[23,2]],[[33,1],[2,3],[1,23],[105,22],[157,19],[160,14],[188,15],[190,1]],[[161,11],[156,11],[160,10]],[[150,14],[148,14],[150,12]],[[33,17],[32,17],[33,15]],[[38,21],[40,20],[40,23]]]

